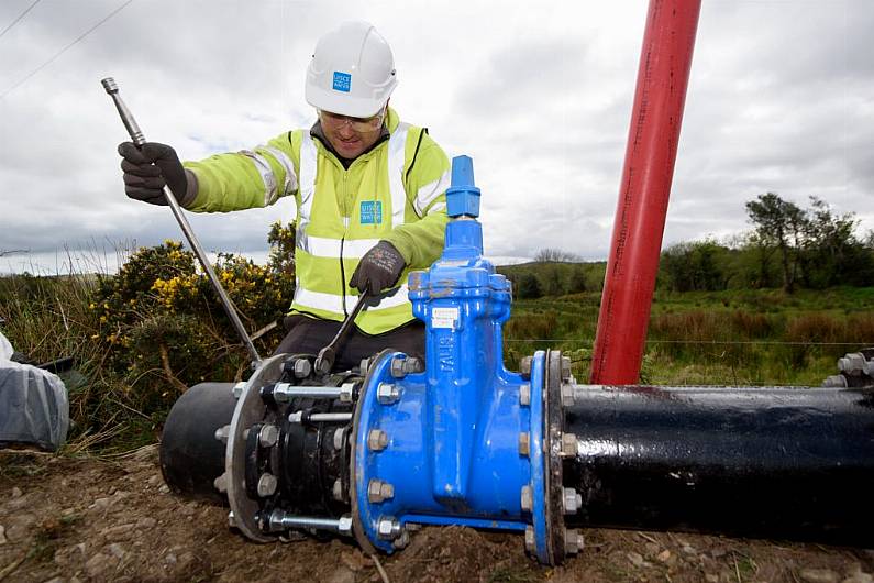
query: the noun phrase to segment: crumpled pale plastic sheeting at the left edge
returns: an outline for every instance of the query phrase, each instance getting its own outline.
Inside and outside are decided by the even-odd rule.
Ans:
[[[20,443],[55,451],[69,429],[67,388],[57,375],[11,358],[12,344],[0,333],[0,447]]]

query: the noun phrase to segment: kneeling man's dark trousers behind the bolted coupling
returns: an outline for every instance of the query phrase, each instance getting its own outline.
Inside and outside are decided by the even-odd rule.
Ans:
[[[288,333],[274,354],[319,354],[336,336],[341,324],[299,315],[287,317],[284,323]],[[377,336],[365,334],[357,327],[353,327],[336,351],[334,371],[349,371],[358,366],[362,360],[385,349],[399,350],[410,356],[424,359],[424,323],[412,320]]]

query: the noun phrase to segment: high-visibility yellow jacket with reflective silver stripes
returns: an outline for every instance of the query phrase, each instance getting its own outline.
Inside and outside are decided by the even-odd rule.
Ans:
[[[343,320],[357,300],[349,287],[361,257],[377,242],[390,242],[407,268],[397,292],[355,319],[378,334],[413,318],[407,298],[410,270],[440,256],[446,226],[450,163],[421,128],[400,122],[389,108],[389,139],[345,169],[309,130],[283,133],[254,151],[186,162],[198,193],[196,212],[264,207],[294,196],[296,289],[290,311]]]

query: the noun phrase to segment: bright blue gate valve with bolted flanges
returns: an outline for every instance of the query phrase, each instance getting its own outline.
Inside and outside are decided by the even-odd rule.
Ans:
[[[483,256],[468,156],[452,161],[446,208],[443,254],[409,278],[413,315],[425,323],[424,372],[386,351],[362,387],[351,464],[357,538],[392,552],[411,525],[524,531],[550,562],[545,354],[534,354],[530,376],[504,365],[510,283]]]

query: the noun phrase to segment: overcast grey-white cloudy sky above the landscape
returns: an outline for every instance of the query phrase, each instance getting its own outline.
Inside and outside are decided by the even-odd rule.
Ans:
[[[0,31],[32,3],[2,0]],[[124,3],[42,0],[0,36],[0,250],[30,251],[0,272],[181,238],[166,208],[124,196],[101,78],[184,160],[252,147],[312,123],[306,66],[347,19],[390,43],[401,118],[474,158],[487,254],[606,256],[645,1],[135,0],[9,90]],[[871,0],[704,1],[663,246],[748,229],[744,202],[768,190],[874,229],[872,31]],[[259,257],[294,213],[288,199],[191,222],[207,249]]]

